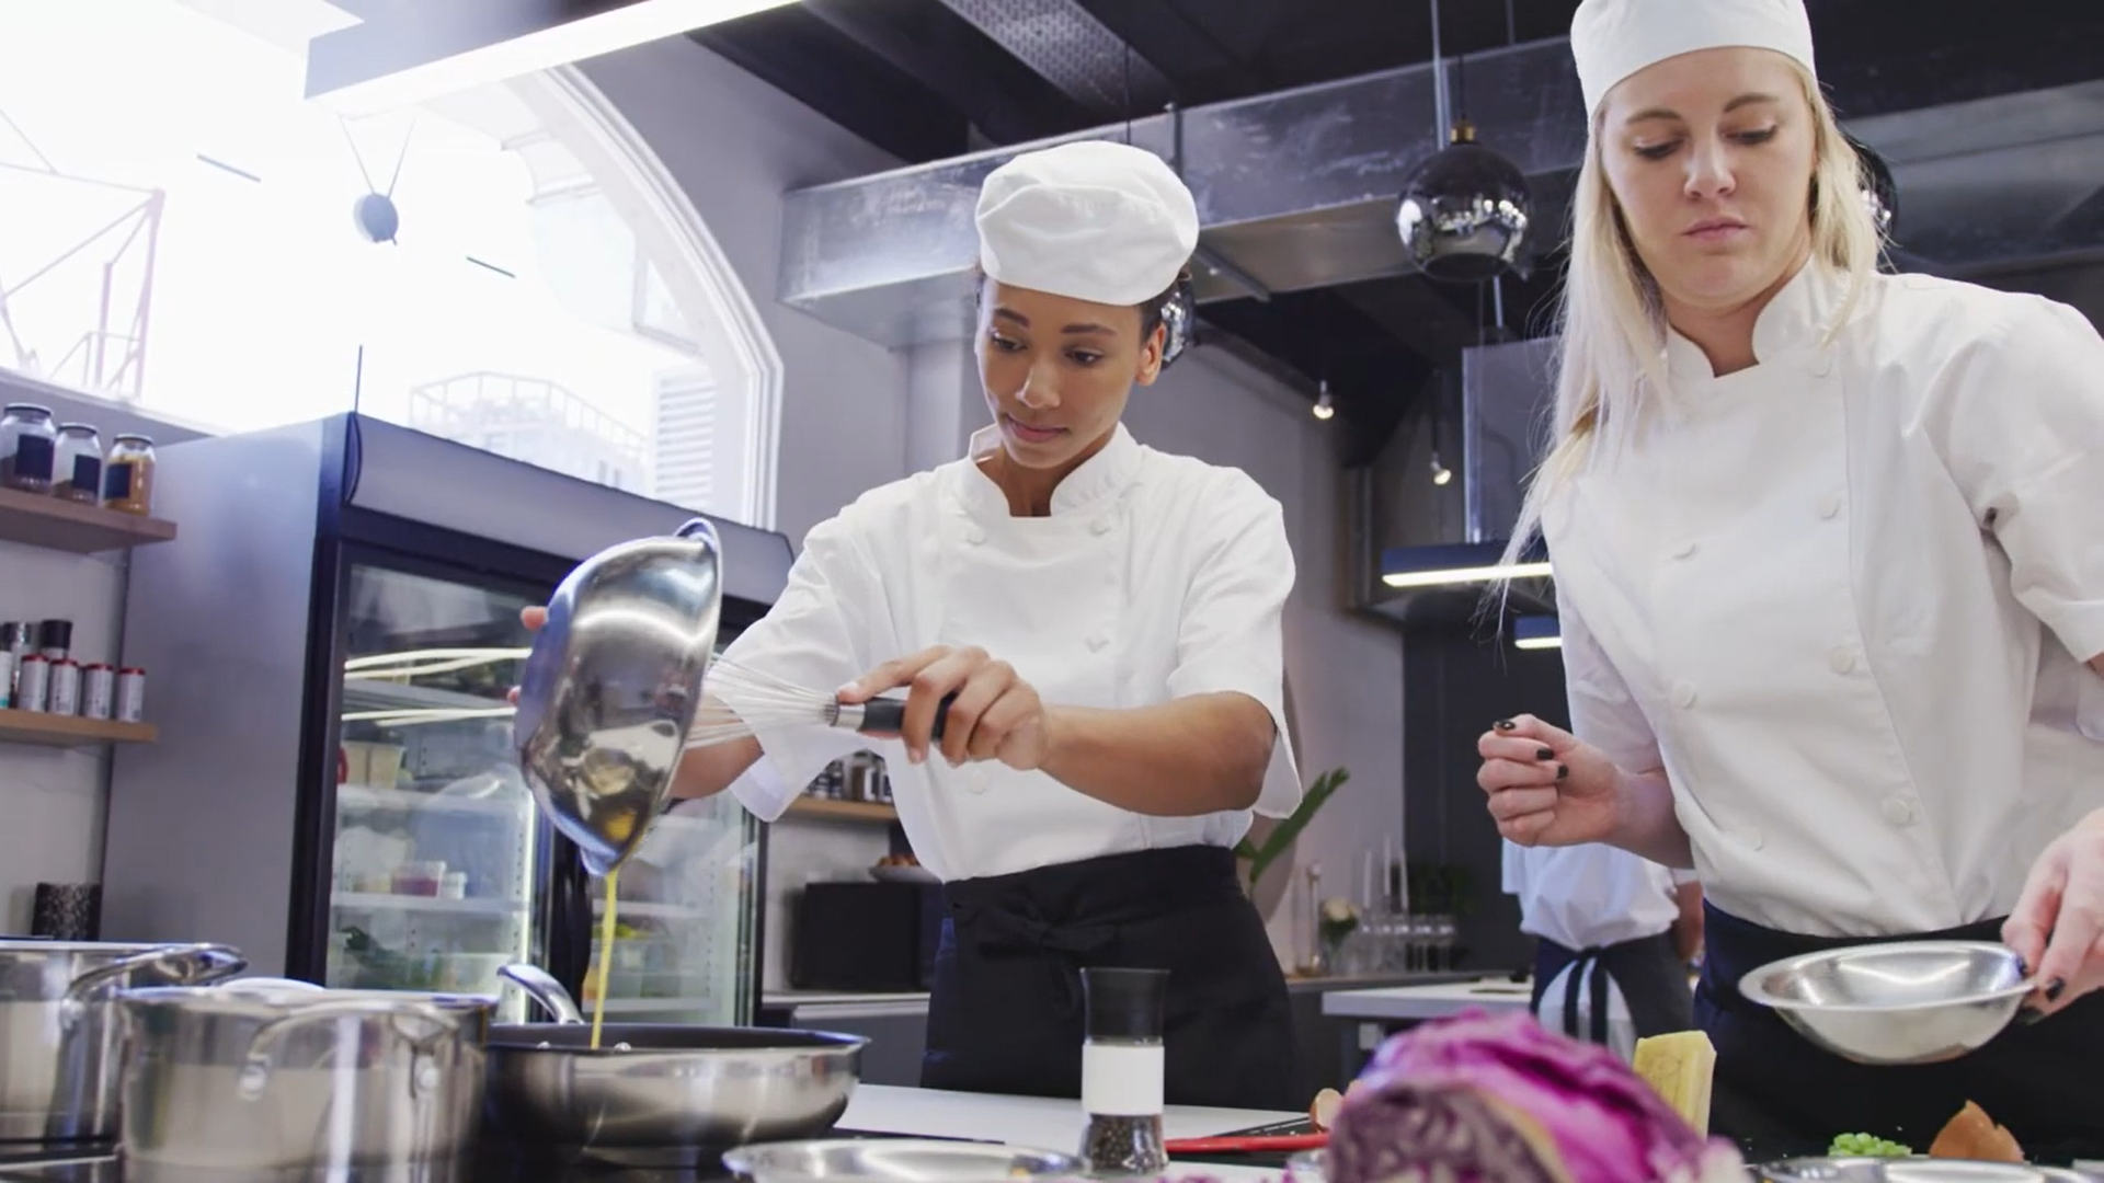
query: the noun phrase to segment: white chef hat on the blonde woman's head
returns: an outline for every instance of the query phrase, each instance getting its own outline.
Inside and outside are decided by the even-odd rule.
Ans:
[[[1584,0],[1572,15],[1586,114],[1645,65],[1723,46],[1772,48],[1818,76],[1805,0]]]

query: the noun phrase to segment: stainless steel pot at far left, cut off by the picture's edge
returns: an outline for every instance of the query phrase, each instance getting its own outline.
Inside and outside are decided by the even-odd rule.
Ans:
[[[0,1145],[114,1139],[114,994],[242,968],[225,945],[0,941]]]

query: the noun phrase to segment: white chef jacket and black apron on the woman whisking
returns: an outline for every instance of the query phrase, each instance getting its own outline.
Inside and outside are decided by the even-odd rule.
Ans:
[[[789,587],[728,659],[839,686],[926,646],[980,646],[1039,697],[1147,707],[1206,693],[1265,705],[1277,739],[1256,808],[1290,815],[1300,781],[1283,718],[1281,613],[1294,583],[1279,503],[1237,469],[1113,438],[1018,518],[970,457],[865,495],[814,528]],[[732,709],[734,693],[726,693]],[[757,728],[732,789],[760,817],[863,737]],[[1041,770],[913,766],[892,789],[922,865],[943,878],[922,1084],[1084,1097],[1081,970],[1168,970],[1164,1095],[1281,1109],[1294,1097],[1292,1004],[1229,848],[1252,810],[1147,817]]]

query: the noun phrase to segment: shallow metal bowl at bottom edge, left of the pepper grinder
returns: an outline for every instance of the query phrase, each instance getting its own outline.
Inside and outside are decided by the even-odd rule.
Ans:
[[[724,1154],[724,1166],[749,1183],[1008,1183],[1079,1179],[1088,1172],[1071,1154],[928,1139],[747,1145]]]

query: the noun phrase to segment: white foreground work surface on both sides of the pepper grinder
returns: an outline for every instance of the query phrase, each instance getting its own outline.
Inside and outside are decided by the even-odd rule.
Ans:
[[[1166,1139],[1203,1139],[1304,1118],[1307,1114],[1271,1109],[1170,1105],[1164,1111],[1161,1135]],[[978,1139],[1073,1154],[1081,1145],[1081,1122],[1079,1101],[863,1084],[848,1101],[848,1111],[839,1118],[837,1128],[871,1135]],[[1279,1175],[1279,1170],[1216,1166],[1210,1162],[1191,1164],[1189,1172],[1212,1175],[1229,1183],[1275,1179]]]

